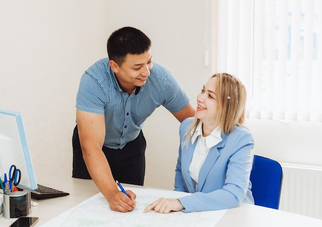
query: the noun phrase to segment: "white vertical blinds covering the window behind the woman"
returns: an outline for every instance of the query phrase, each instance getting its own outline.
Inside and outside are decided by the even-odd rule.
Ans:
[[[215,2],[214,71],[245,84],[246,116],[321,122],[322,1]]]

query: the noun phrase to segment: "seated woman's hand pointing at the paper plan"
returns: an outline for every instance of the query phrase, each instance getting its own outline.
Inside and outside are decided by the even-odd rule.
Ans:
[[[182,209],[184,209],[184,207],[178,199],[160,198],[148,205],[143,213],[154,210],[159,213],[168,214],[171,211],[181,211]]]

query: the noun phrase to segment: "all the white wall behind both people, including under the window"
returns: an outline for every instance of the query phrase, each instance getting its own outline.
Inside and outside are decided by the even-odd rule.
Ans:
[[[22,112],[36,174],[71,176],[79,80],[107,56],[108,36],[120,27],[150,37],[153,60],[175,75],[195,105],[212,72],[203,64],[205,11],[205,1],[194,0],[0,0],[0,108]],[[246,122],[256,154],[322,165],[321,123]],[[173,188],[178,126],[163,107],[147,120],[146,186]]]

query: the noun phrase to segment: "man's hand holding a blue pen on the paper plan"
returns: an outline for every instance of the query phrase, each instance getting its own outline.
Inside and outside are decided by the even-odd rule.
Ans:
[[[136,195],[130,190],[126,192],[130,198],[127,197],[127,195],[123,192],[117,191],[108,199],[112,211],[119,211],[124,213],[134,210]]]

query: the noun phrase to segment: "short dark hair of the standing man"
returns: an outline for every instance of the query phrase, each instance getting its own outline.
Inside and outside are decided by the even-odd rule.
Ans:
[[[151,47],[151,40],[140,30],[123,27],[114,31],[108,40],[110,60],[122,65],[128,54],[142,54]]]

